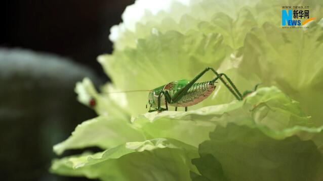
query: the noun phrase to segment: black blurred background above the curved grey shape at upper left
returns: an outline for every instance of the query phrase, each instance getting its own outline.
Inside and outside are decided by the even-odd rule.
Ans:
[[[110,27],[134,0],[12,0],[2,3],[1,46],[72,57],[103,76],[96,57],[110,53]],[[104,77],[104,76],[103,76]]]

